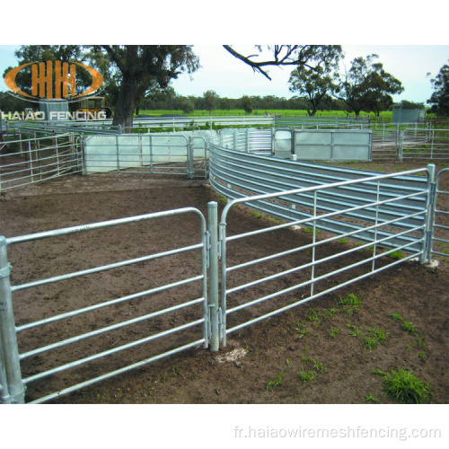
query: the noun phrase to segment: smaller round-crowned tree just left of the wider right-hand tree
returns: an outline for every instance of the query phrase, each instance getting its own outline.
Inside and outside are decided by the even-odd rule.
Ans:
[[[337,77],[330,67],[318,66],[315,70],[298,66],[290,74],[288,80],[290,92],[298,92],[308,100],[307,113],[314,117],[320,103],[337,88]],[[309,105],[312,106],[309,108]]]

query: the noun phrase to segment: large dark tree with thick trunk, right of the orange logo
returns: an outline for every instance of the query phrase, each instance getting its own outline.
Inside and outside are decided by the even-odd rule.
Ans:
[[[118,67],[121,83],[113,125],[132,128],[136,103],[154,82],[166,87],[182,72],[199,67],[198,57],[189,45],[103,45],[110,61]]]

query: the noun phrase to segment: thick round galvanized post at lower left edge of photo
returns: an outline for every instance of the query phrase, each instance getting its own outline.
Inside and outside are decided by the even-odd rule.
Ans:
[[[22,383],[22,372],[19,361],[19,348],[15,334],[13,314],[13,297],[9,274],[11,265],[6,253],[6,239],[0,236],[0,339],[3,347],[4,374],[6,397],[8,404],[23,404],[25,402],[25,390]]]

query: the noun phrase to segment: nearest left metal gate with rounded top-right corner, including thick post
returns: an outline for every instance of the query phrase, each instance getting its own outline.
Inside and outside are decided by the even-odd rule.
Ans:
[[[163,218],[170,218],[172,220],[174,216],[185,214],[193,214],[198,216],[200,222],[198,226],[199,238],[195,238],[195,241],[192,244],[180,248],[171,248],[165,251],[155,252],[143,257],[121,260],[118,262],[110,263],[108,265],[102,265],[89,269],[75,270],[74,272],[66,273],[63,275],[45,277],[38,280],[33,280],[31,282],[11,285],[10,276],[12,267],[10,262],[8,261],[7,248],[11,247],[12,245],[28,243],[31,244],[32,248],[32,244],[35,244],[35,242],[42,239],[49,241],[57,237],[64,237],[65,239],[67,239],[67,236],[69,234],[93,233],[97,230],[118,225],[126,225],[125,230],[127,230],[132,224],[141,224],[145,221],[156,219],[161,220]],[[77,238],[79,238],[79,236]],[[50,248],[51,242],[48,242],[47,245]],[[43,380],[46,380],[46,382],[48,382],[48,377],[53,379],[53,376],[65,372],[66,370],[70,370],[70,374],[66,375],[67,377],[68,375],[70,375],[70,381],[72,381],[72,378],[76,379],[80,377],[80,375],[78,375],[79,373],[76,374],[76,369],[84,371],[85,365],[94,363],[100,358],[102,359],[102,363],[104,363],[103,357],[111,357],[116,354],[120,354],[120,360],[113,361],[114,363],[117,362],[120,365],[120,362],[122,362],[121,357],[125,357],[124,352],[133,348],[139,348],[139,354],[137,356],[142,357],[141,353],[144,353],[145,357],[141,358],[137,362],[133,361],[129,365],[121,365],[118,368],[112,369],[110,372],[94,376],[87,380],[83,380],[82,382],[76,383],[75,385],[66,386],[57,392],[48,392],[48,388],[51,388],[52,384],[44,383],[43,386],[40,385],[40,388],[38,389],[38,391],[44,392],[44,396],[35,399],[35,387],[33,389],[31,403],[49,401],[69,392],[75,392],[76,390],[87,387],[88,385],[92,385],[93,383],[98,383],[117,374],[123,374],[131,369],[138,368],[142,365],[154,362],[155,360],[163,357],[171,356],[172,354],[178,353],[188,348],[194,348],[198,345],[203,345],[204,348],[207,348],[208,340],[210,337],[209,310],[211,309],[211,307],[209,307],[207,304],[208,248],[208,231],[206,219],[203,214],[194,207],[185,207],[166,212],[146,214],[143,216],[132,216],[91,225],[80,225],[59,229],[56,231],[34,233],[13,238],[0,237],[0,402],[23,403],[25,388],[31,383],[39,383],[43,382]],[[92,304],[92,298],[86,298],[88,301],[86,302],[86,305],[77,310],[69,310],[70,307],[68,307],[68,310],[59,311],[59,306],[56,305],[59,303],[59,301],[57,301],[57,297],[44,297],[43,299],[47,299],[47,302],[49,300],[52,304],[55,304],[52,307],[57,308],[57,313],[54,313],[51,316],[48,316],[46,313],[44,313],[38,321],[21,322],[19,324],[14,321],[13,309],[17,310],[18,307],[26,307],[25,301],[21,301],[21,298],[16,297],[16,295],[21,291],[34,290],[35,293],[32,294],[33,296],[31,298],[31,301],[34,302],[42,299],[42,292],[40,291],[40,288],[42,286],[54,285],[59,282],[73,280],[78,277],[83,277],[83,282],[85,282],[84,279],[86,277],[98,273],[103,274],[103,272],[107,270],[108,272],[110,272],[114,269],[124,269],[125,267],[131,265],[133,266],[133,269],[136,269],[137,265],[142,267],[145,262],[154,263],[155,260],[163,260],[163,258],[170,258],[171,256],[180,258],[180,254],[184,253],[189,253],[189,255],[191,255],[192,253],[197,253],[196,258],[198,260],[198,272],[194,273],[193,276],[175,280],[167,285],[156,286],[153,288],[146,287],[142,291],[137,291],[129,295],[123,295],[118,298],[116,297],[114,299],[107,299],[103,301],[100,300],[99,302],[95,302],[95,304]],[[51,252],[48,251],[48,254],[51,254]],[[67,255],[67,251],[64,251],[64,255]],[[55,265],[57,266],[57,264]],[[36,269],[36,271],[39,271],[39,269]],[[150,275],[145,275],[145,278],[146,277],[151,278]],[[135,278],[132,277],[132,279]],[[188,290],[188,286],[190,285],[195,285],[194,293],[198,291],[198,296],[194,296],[193,298],[190,297],[189,299],[184,300],[184,295],[188,295],[188,293],[191,293]],[[171,289],[174,289],[176,287],[181,287],[181,293],[179,294],[179,296],[182,301],[178,301],[178,296],[172,298],[169,303],[163,303],[162,300],[158,300],[157,304],[154,304],[154,306],[152,306],[151,312],[142,313],[141,315],[135,316],[132,319],[125,319],[125,321],[118,321],[110,324],[110,322],[112,321],[112,317],[115,313],[117,313],[117,307],[121,307],[124,304],[127,304],[127,307],[129,307],[129,304],[132,304],[132,302],[136,302],[137,300],[144,301],[144,299],[142,298],[145,298],[145,300],[146,298],[153,298],[154,296],[152,295],[157,295],[161,292],[163,292],[163,294],[166,294],[167,291],[170,291]],[[83,289],[84,284],[80,285],[78,288]],[[75,295],[76,292],[77,289],[75,289],[75,291],[70,290],[70,295]],[[99,298],[94,299],[99,300]],[[161,304],[159,304],[160,301]],[[187,308],[193,309],[193,312],[191,312],[190,315],[193,313],[195,314],[195,317],[190,318],[189,321],[185,316]],[[168,329],[163,331],[158,331],[159,328],[154,325],[154,331],[154,326],[152,324],[153,321],[156,321],[157,319],[161,320],[160,317],[162,317],[163,315],[175,313],[176,311],[180,310],[182,310],[182,316],[180,317],[179,321],[184,320],[185,322],[181,322],[180,324],[178,324],[178,322],[172,324],[171,322],[171,325],[168,326]],[[107,313],[105,322],[100,321],[99,316],[97,315],[99,311],[101,311],[101,313]],[[91,328],[89,328],[92,330],[85,331],[86,329],[84,328],[82,329],[82,333],[77,333],[79,332],[78,329],[81,329],[78,328],[78,326],[81,326],[83,324],[83,322],[80,320],[86,319],[86,315],[89,314],[93,314]],[[129,315],[129,313],[124,314],[127,316]],[[64,322],[64,326],[60,324],[61,322]],[[119,330],[119,333],[121,333],[126,327],[132,327],[136,324],[138,324],[139,326],[139,331],[134,332],[138,335],[138,339],[126,341],[124,344],[120,345],[117,345],[117,342],[114,343],[110,341],[110,339],[107,339],[115,330]],[[66,332],[68,332],[68,329],[70,328],[70,325],[72,329],[75,328],[75,335],[73,336],[68,336],[66,334]],[[99,328],[99,326],[102,327]],[[197,330],[193,329],[195,327],[197,328]],[[145,330],[148,331],[149,335],[141,335],[140,330],[142,328],[145,328]],[[193,330],[191,330],[190,328],[192,328]],[[154,345],[154,341],[156,339],[167,339],[169,336],[172,336],[172,334],[185,330],[189,330],[189,337],[193,339],[193,341],[189,341],[188,343],[186,343],[183,338],[181,342],[176,340],[176,344],[170,343],[172,347],[170,347],[168,350],[164,350],[164,352],[161,353],[152,354],[149,357],[147,355],[148,353],[145,352],[145,350],[142,348],[147,343],[151,343],[152,345]],[[28,335],[29,332],[37,331],[45,333],[46,339],[48,338],[48,341],[44,344],[44,346],[41,346],[39,348],[30,348],[30,346],[33,346],[32,343],[34,343],[33,336],[31,335],[31,337],[27,337],[26,339],[27,348],[20,351],[19,348],[22,334]],[[51,338],[52,335],[55,335],[59,338],[56,341],[53,341],[53,339]],[[85,352],[80,352],[82,350],[80,349],[77,353],[79,358],[75,360],[69,360],[67,357],[65,357],[67,353],[75,355],[76,347],[78,345],[81,345],[82,342],[84,344],[88,344],[88,342],[84,340],[88,339],[89,341],[92,341],[90,339],[97,336],[101,336],[101,339],[106,340],[104,345],[101,344],[101,348],[103,346],[104,348],[102,348],[99,353],[86,355]],[[119,341],[120,334],[119,337],[115,337],[115,339],[118,339]],[[68,345],[70,345],[71,350],[65,351]],[[60,354],[60,356],[58,355],[57,357],[60,358],[57,358],[57,360],[61,360],[60,365],[47,367],[45,357],[41,358],[40,355],[43,353],[48,353],[48,351],[59,351],[58,354]],[[84,348],[83,351],[89,352],[89,348]],[[36,362],[33,363],[32,369],[27,369],[28,375],[22,378],[21,366],[23,363],[26,363],[31,357],[35,357],[34,360],[36,360]],[[37,367],[40,367],[40,365],[44,366],[45,369],[44,371],[37,372]],[[98,368],[92,369],[93,372],[96,373],[96,370]]]

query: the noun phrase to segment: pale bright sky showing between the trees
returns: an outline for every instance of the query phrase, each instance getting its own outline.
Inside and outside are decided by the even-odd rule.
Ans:
[[[373,53],[383,68],[398,78],[404,92],[393,95],[395,102],[409,100],[426,102],[432,95],[430,79],[449,62],[449,45],[343,45],[344,65],[349,67],[354,57],[366,57]],[[17,66],[14,50],[16,45],[0,45],[0,71],[3,75],[8,66]],[[236,45],[236,49],[248,51],[251,45]],[[172,80],[172,87],[179,95],[202,96],[208,90],[220,97],[241,98],[242,95],[274,95],[290,98],[295,95],[288,90],[288,78],[294,67],[270,67],[271,81],[254,73],[250,66],[230,55],[220,45],[194,45],[201,68],[193,75],[183,74]],[[431,75],[427,75],[430,73]],[[8,90],[2,77],[0,90]]]

